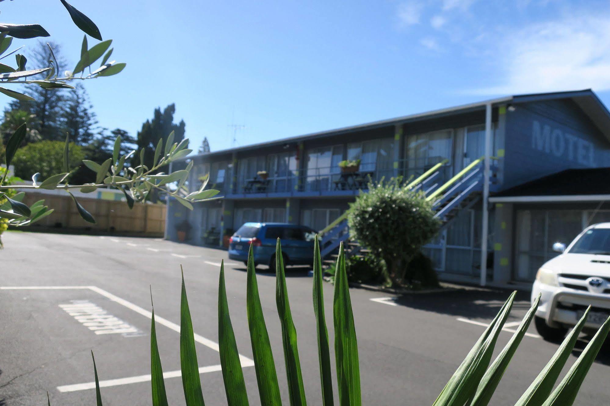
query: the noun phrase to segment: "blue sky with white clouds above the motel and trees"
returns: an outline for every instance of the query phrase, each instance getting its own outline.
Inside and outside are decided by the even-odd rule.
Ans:
[[[231,147],[229,124],[245,125],[240,146],[504,94],[593,88],[610,105],[607,1],[71,4],[127,63],[86,82],[100,124],[135,135],[175,102],[193,149],[204,136],[213,151]],[[42,24],[76,63],[82,33],[59,0],[0,10]]]

